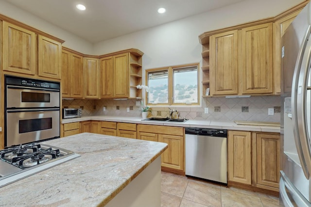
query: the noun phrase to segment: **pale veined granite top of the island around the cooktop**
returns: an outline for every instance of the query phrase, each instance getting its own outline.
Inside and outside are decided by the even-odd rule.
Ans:
[[[43,143],[81,157],[3,186],[0,206],[104,206],[167,148],[166,143],[93,133]]]

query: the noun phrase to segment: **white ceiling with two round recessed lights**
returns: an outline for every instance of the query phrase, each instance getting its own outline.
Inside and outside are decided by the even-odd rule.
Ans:
[[[242,0],[6,0],[88,42],[137,32]],[[86,6],[85,11],[76,4]],[[158,14],[157,9],[166,8]]]

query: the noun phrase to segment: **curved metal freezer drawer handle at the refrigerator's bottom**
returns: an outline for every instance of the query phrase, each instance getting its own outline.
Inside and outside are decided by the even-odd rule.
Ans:
[[[294,187],[285,173],[280,171],[280,174],[279,191],[283,205],[285,207],[311,207],[311,203]]]

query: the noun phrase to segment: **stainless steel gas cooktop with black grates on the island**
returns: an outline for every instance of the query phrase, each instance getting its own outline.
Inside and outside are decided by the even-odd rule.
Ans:
[[[0,187],[79,157],[59,147],[28,143],[0,150]]]

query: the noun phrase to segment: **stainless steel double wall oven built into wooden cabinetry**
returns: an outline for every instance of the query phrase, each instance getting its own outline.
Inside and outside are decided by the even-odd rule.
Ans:
[[[4,145],[60,137],[60,83],[5,75]]]

